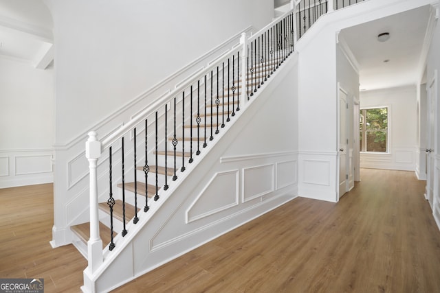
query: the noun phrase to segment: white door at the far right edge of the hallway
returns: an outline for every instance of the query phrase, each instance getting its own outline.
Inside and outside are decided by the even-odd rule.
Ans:
[[[437,73],[437,71],[436,71]],[[428,115],[427,115],[427,126],[428,135],[426,137],[426,199],[428,200],[431,209],[434,209],[434,149],[436,137],[436,103],[435,103],[435,86],[437,81],[437,74],[434,74],[434,78],[430,83],[428,83]]]

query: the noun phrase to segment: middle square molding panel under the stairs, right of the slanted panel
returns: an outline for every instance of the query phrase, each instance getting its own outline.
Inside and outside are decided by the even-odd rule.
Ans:
[[[274,191],[274,164],[243,168],[243,202]]]

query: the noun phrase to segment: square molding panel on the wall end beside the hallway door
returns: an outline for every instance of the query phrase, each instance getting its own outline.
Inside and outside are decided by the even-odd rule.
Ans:
[[[330,186],[330,161],[304,160],[303,183]]]

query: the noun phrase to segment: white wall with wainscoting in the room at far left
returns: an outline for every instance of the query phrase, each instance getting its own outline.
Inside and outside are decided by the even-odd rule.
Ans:
[[[54,70],[0,58],[0,188],[50,183]]]

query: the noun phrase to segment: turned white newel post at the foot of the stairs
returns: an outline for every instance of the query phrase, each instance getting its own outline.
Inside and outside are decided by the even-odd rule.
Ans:
[[[101,143],[96,139],[96,132],[89,132],[89,139],[85,143],[85,156],[89,160],[89,188],[90,188],[90,239],[87,242],[88,269],[95,272],[102,263],[102,240],[99,235],[98,218],[98,176],[96,166],[101,155]]]

